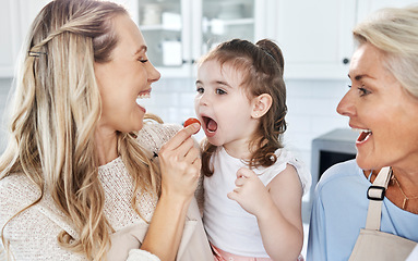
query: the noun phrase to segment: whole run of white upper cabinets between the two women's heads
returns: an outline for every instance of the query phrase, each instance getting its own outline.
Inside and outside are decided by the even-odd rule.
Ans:
[[[136,21],[164,77],[194,76],[194,62],[231,38],[275,40],[286,78],[346,78],[356,0],[141,0]]]

